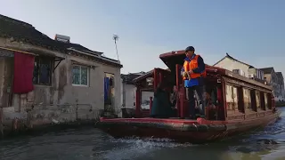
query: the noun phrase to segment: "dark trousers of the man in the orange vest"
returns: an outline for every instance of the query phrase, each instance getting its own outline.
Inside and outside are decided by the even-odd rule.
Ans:
[[[198,100],[200,116],[205,116],[206,100],[205,100],[204,92],[205,92],[204,85],[197,85],[197,86],[186,88],[186,99],[189,100],[189,111],[190,111],[191,118],[195,118],[196,116],[196,113],[195,113],[196,105],[195,105],[194,95],[196,95],[196,99]]]

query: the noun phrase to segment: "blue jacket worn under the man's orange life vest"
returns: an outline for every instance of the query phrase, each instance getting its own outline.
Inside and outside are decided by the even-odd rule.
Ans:
[[[193,56],[191,57],[191,59],[189,59],[188,57],[186,57],[184,60],[187,61],[191,61],[194,57],[196,56],[196,54],[193,54]],[[205,63],[204,60],[201,56],[199,56],[198,58],[198,68],[194,68],[193,72],[194,73],[202,73],[205,70]],[[184,68],[182,68],[181,73],[183,73]],[[192,87],[195,85],[204,85],[204,79],[202,77],[199,78],[192,78],[191,80],[184,80],[184,87]]]

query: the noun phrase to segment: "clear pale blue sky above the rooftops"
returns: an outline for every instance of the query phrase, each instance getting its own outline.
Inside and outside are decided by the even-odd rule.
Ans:
[[[283,0],[0,0],[0,14],[53,38],[104,52],[122,73],[167,68],[159,54],[195,47],[213,65],[228,52],[256,68],[285,74]]]

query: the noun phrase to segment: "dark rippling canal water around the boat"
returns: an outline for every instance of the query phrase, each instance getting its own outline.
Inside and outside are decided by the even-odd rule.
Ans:
[[[285,160],[285,108],[263,131],[208,145],[115,140],[94,128],[0,141],[0,160]]]

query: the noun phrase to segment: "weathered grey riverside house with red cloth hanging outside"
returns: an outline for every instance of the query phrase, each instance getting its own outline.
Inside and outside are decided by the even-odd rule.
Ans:
[[[17,118],[29,127],[94,120],[120,110],[118,60],[69,36],[54,39],[32,25],[0,15],[0,127]],[[2,115],[2,116],[1,116]]]

